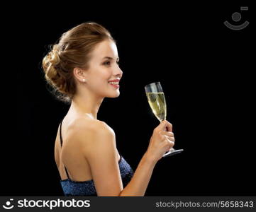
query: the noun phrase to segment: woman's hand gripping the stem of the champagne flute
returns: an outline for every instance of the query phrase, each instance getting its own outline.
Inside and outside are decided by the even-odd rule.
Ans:
[[[172,124],[164,120],[154,129],[146,154],[150,160],[157,162],[174,146],[174,142]]]

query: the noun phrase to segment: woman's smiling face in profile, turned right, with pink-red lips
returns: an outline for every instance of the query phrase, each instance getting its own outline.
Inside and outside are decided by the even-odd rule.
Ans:
[[[86,71],[86,86],[101,97],[116,98],[120,95],[119,82],[111,85],[109,81],[120,80],[123,71],[118,66],[118,51],[112,40],[96,45],[91,52],[89,69]]]

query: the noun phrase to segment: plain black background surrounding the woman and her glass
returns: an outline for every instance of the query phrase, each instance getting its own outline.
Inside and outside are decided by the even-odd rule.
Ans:
[[[240,6],[249,10],[240,11]],[[6,122],[8,139],[1,143],[1,195],[62,195],[54,142],[69,107],[48,92],[40,62],[48,45],[89,20],[104,25],[117,40],[121,95],[104,100],[98,119],[115,131],[118,151],[135,170],[159,124],[144,90],[154,81],[160,81],[165,92],[175,148],[184,148],[183,153],[157,163],[145,196],[256,194],[255,23],[245,1],[142,6],[45,2],[16,5],[16,9],[13,19],[6,17],[12,28],[16,60],[9,67],[17,73],[17,98],[15,112],[8,108],[3,112],[15,117]],[[238,23],[231,19],[235,11],[242,14]],[[225,20],[237,25],[248,20],[250,25],[235,31],[223,25]]]

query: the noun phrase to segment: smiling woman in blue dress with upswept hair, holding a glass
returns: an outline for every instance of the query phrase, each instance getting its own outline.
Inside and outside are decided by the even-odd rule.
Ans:
[[[70,103],[55,140],[65,196],[144,196],[155,164],[174,146],[172,124],[163,121],[135,172],[118,153],[113,129],[97,119],[104,98],[120,95],[118,59],[115,40],[97,23],[67,31],[43,59],[57,98]]]

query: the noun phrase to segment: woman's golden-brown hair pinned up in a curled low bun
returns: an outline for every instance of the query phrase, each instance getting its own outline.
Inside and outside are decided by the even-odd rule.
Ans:
[[[43,58],[45,79],[52,93],[63,102],[71,102],[76,93],[73,70],[89,68],[90,53],[104,40],[113,40],[111,34],[99,23],[87,22],[62,34]],[[115,42],[115,40],[113,40]]]

